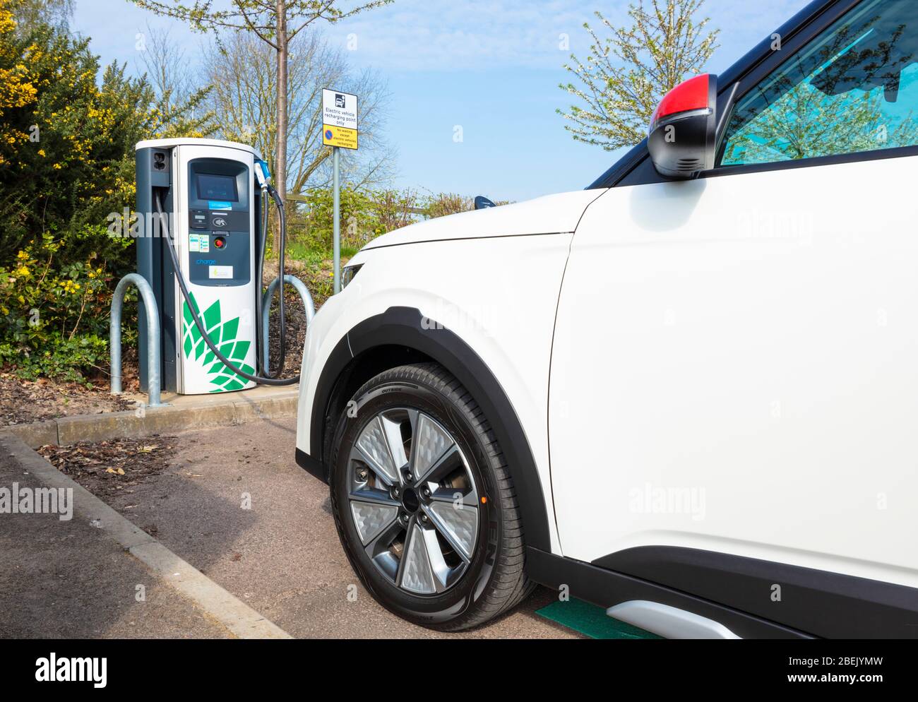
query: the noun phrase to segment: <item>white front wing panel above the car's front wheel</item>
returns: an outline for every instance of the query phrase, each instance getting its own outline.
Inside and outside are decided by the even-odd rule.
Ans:
[[[597,194],[594,193],[594,198]],[[331,352],[364,319],[408,306],[457,334],[499,379],[529,440],[550,501],[548,369],[554,310],[571,234],[442,240],[363,251],[351,284],[309,326],[300,380],[297,449],[315,454],[310,428],[319,375]],[[448,269],[444,269],[448,266]],[[552,513],[551,505],[547,506]],[[557,546],[554,520],[551,543]]]

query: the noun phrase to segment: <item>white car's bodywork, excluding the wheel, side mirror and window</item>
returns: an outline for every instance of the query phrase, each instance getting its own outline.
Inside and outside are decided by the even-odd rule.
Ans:
[[[856,5],[815,0],[723,72],[722,115]],[[916,166],[906,146],[674,183],[644,142],[593,189],[386,234],[308,330],[301,465],[322,473],[330,356],[417,310],[519,418],[550,522],[536,582],[744,637],[913,637]]]

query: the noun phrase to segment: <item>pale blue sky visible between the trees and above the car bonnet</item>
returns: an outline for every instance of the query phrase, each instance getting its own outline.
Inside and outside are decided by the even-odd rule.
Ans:
[[[707,0],[703,11],[722,30],[709,70],[727,68],[806,2]],[[597,26],[600,10],[620,24],[627,7],[627,0],[396,0],[323,30],[344,47],[355,35],[348,52],[355,68],[388,81],[394,184],[522,200],[582,188],[615,162],[617,154],[571,139],[555,109],[570,105],[557,87],[568,80],[562,64],[588,52],[583,23]],[[75,3],[73,28],[93,39],[104,63],[136,67],[135,35],[148,23],[171,28],[190,56],[204,40],[128,0]],[[559,49],[563,34],[569,50]]]

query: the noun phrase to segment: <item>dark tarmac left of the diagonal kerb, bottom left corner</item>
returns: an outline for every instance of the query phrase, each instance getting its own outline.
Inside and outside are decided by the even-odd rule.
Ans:
[[[42,485],[0,454],[0,486]],[[77,516],[0,514],[0,637],[229,638],[229,631]]]

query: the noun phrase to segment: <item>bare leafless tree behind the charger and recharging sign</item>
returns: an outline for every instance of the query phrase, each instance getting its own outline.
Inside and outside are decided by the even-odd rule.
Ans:
[[[270,72],[273,50],[251,34],[234,33],[207,52],[212,92],[210,110],[223,139],[251,143],[269,162],[277,153],[274,113],[277,85]],[[324,166],[331,155],[322,145],[322,88],[335,85],[360,95],[360,150],[341,154],[342,179],[362,187],[388,174],[390,150],[382,136],[388,99],[385,82],[375,72],[350,71],[346,51],[331,47],[318,31],[308,32],[290,52],[287,87],[287,182],[302,195],[330,181]]]

